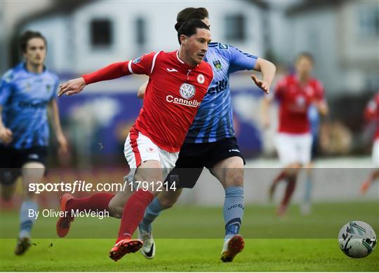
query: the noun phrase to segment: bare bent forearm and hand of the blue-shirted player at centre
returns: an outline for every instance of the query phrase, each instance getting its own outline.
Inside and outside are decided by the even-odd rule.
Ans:
[[[262,80],[258,79],[255,74],[251,75],[251,79],[254,81],[255,85],[260,87],[266,94],[270,93],[270,86],[272,84],[272,80],[274,80],[275,71],[277,68],[272,62],[267,61],[267,59],[258,58],[255,66],[255,71],[260,71],[262,73]]]

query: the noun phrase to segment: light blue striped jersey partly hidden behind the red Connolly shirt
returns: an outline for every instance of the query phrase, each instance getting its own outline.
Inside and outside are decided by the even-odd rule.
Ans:
[[[232,45],[210,43],[205,61],[213,69],[213,81],[201,102],[185,143],[206,143],[234,137],[230,73],[253,69],[258,57]]]

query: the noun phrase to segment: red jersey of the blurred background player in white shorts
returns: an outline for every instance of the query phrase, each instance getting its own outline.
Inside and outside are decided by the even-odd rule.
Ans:
[[[308,109],[314,101],[324,99],[324,87],[315,78],[305,85],[295,75],[279,81],[274,93],[279,101],[279,132],[305,134],[310,132]]]

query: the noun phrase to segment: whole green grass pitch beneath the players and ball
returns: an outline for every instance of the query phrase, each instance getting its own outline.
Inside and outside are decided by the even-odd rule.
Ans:
[[[35,245],[22,257],[13,255],[18,214],[1,211],[0,220],[0,271],[379,271],[378,249],[367,258],[352,259],[337,242],[342,225],[352,220],[366,221],[378,232],[378,202],[317,204],[311,216],[300,216],[293,206],[286,218],[274,216],[274,207],[248,206],[241,229],[246,248],[228,264],[220,261],[220,208],[165,211],[154,225],[156,257],[146,260],[135,253],[119,262],[108,258],[117,219],[76,219],[67,239],[58,239],[56,219],[40,218],[33,231]]]

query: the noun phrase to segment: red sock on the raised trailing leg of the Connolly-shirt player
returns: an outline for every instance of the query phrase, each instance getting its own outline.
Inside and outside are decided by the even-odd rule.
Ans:
[[[91,209],[91,211],[109,211],[108,204],[113,197],[113,193],[95,193],[88,197],[74,198],[67,202],[66,210],[79,209],[79,211],[84,211],[85,209]]]

